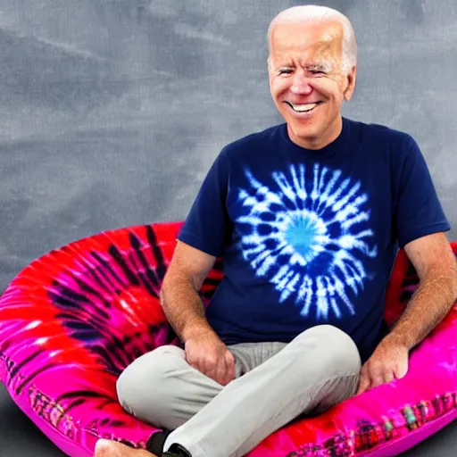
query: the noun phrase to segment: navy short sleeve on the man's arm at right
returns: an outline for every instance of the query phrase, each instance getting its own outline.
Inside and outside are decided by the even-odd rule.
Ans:
[[[419,145],[407,136],[397,162],[395,234],[403,248],[414,239],[450,230]]]

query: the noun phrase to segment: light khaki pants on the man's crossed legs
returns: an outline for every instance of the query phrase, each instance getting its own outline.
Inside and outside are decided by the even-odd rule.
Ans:
[[[289,344],[230,345],[237,378],[227,386],[162,346],[139,357],[117,384],[120,404],[140,420],[174,430],[192,457],[241,457],[303,413],[324,411],[355,394],[361,358],[353,340],[322,325]]]

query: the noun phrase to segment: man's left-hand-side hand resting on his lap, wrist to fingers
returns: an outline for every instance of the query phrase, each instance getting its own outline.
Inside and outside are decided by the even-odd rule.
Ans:
[[[235,378],[235,358],[214,333],[201,332],[187,339],[185,351],[189,365],[221,386]]]

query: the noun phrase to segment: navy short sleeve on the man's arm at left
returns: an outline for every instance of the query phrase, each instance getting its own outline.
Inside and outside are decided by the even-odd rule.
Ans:
[[[228,160],[224,150],[212,163],[178,239],[204,253],[220,257],[229,237],[227,211]]]

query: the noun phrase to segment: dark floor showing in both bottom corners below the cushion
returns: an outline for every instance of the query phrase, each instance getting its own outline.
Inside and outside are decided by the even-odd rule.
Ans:
[[[414,447],[407,457],[455,457],[457,421]],[[25,414],[0,384],[0,457],[64,457]],[[387,456],[386,456],[387,457]]]

